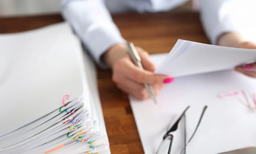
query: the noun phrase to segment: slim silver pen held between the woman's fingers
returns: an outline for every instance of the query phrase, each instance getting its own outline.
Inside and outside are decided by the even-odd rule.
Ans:
[[[130,42],[130,43],[127,43],[127,46],[128,46],[130,58],[133,60],[134,64],[137,65],[141,70],[144,70],[141,64],[141,57],[139,56],[136,48],[134,47],[134,44]],[[157,104],[157,99],[153,92],[152,87],[147,83],[144,83],[144,85],[147,91],[149,92],[151,99],[154,101],[154,103]]]

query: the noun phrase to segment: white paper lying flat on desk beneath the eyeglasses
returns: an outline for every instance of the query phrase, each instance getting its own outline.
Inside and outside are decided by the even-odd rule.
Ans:
[[[164,55],[151,55],[152,60],[162,61]],[[151,99],[130,104],[145,154],[155,154],[162,137],[173,118],[190,105],[187,111],[187,136],[190,137],[199,120],[203,106],[208,108],[187,154],[217,154],[243,147],[256,146],[256,112],[252,113],[243,97],[220,99],[218,95],[231,90],[256,92],[256,80],[233,70],[176,77],[157,96],[158,104]],[[173,142],[183,139],[174,138]],[[173,151],[179,151],[173,143]]]

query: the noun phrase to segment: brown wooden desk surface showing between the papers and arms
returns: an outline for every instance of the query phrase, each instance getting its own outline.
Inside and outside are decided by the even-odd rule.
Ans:
[[[149,53],[169,52],[177,39],[209,43],[195,12],[113,15],[122,36]],[[62,22],[60,15],[0,18],[0,33],[15,33]],[[126,94],[111,81],[111,71],[97,69],[98,87],[112,154],[143,154]]]

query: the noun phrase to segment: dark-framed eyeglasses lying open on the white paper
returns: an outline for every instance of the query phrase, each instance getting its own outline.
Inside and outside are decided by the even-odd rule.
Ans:
[[[171,134],[171,132],[175,132],[178,129],[178,125],[180,123],[180,121],[183,121],[183,128],[184,128],[184,147],[181,150],[180,154],[186,154],[186,147],[187,144],[190,143],[191,139],[195,136],[195,132],[197,131],[202,119],[203,119],[203,115],[207,109],[207,106],[203,107],[203,111],[201,113],[201,116],[199,118],[199,121],[197,123],[197,126],[195,128],[195,131],[192,133],[191,137],[188,139],[187,141],[187,136],[186,136],[186,111],[189,109],[190,106],[187,106],[187,108],[183,111],[183,113],[180,115],[180,117],[178,118],[178,120],[174,123],[174,125],[172,125],[172,127],[165,133],[164,137],[163,137],[163,141],[161,142],[160,146],[157,149],[157,154],[171,154],[171,150],[172,150],[172,142],[173,142],[173,134]]]

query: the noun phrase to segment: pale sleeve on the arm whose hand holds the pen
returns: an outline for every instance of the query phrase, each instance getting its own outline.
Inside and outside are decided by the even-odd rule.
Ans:
[[[102,55],[116,43],[125,42],[102,0],[62,0],[62,15],[101,67]]]

